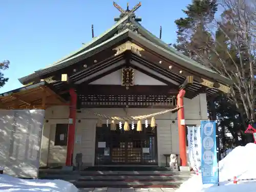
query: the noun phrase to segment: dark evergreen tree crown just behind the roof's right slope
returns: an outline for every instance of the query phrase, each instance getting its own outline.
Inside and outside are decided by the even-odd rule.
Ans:
[[[183,54],[197,59],[197,54],[207,53],[207,44],[212,44],[210,33],[205,26],[210,24],[217,12],[215,0],[193,0],[182,10],[187,16],[175,20],[177,44],[174,47]]]

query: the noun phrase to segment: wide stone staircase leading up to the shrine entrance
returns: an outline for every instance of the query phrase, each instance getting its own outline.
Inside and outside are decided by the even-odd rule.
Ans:
[[[77,188],[179,188],[193,175],[191,172],[170,171],[39,170],[39,179],[61,179],[73,183]]]

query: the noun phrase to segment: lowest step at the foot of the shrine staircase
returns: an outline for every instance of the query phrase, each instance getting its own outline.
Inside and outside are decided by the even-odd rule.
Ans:
[[[125,181],[69,181],[73,183],[77,188],[91,188],[91,187],[120,187],[120,188],[157,188],[157,187],[165,187],[165,188],[178,188],[182,182],[177,181],[152,181],[152,182],[125,182]]]

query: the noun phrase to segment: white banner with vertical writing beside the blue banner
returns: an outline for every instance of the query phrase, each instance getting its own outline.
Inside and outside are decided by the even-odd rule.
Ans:
[[[201,173],[201,129],[200,126],[187,126],[188,157],[190,166]]]

